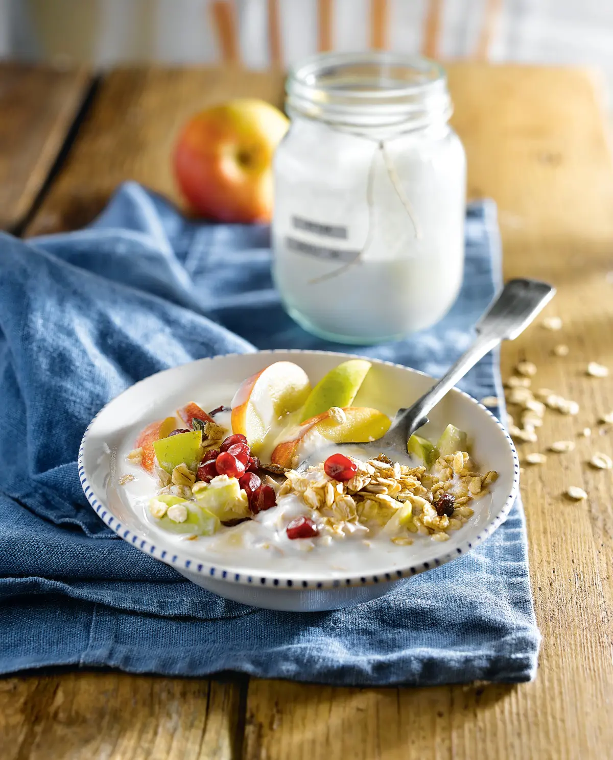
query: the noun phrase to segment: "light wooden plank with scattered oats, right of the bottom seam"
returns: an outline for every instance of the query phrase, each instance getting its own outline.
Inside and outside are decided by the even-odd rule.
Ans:
[[[613,433],[598,435],[613,410],[613,384],[585,375],[613,368],[613,168],[592,80],[581,71],[449,66],[454,125],[468,154],[468,192],[495,198],[505,275],[542,277],[558,288],[551,333],[535,325],[507,344],[503,373],[519,358],[538,366],[537,387],[579,402],[574,418],[548,415],[537,445],[573,439],[576,455],[550,455],[526,470],[522,493],[532,584],[544,636],[538,678],[522,686],[330,689],[253,679],[246,760],[256,758],[505,758],[557,760],[611,752],[611,473],[590,470],[594,449],[613,456]],[[572,93],[570,95],[569,93]],[[566,359],[554,344],[570,347]],[[584,426],[592,439],[577,438]],[[608,429],[603,429],[608,433]],[[583,486],[589,501],[561,496]]]

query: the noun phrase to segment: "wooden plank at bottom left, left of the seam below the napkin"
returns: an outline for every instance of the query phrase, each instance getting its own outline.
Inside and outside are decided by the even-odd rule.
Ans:
[[[241,680],[65,673],[0,680],[3,760],[240,756]]]

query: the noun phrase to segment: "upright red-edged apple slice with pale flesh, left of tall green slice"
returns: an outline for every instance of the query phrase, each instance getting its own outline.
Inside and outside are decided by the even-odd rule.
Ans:
[[[254,454],[284,416],[300,409],[310,394],[306,372],[293,362],[275,362],[247,378],[232,400],[232,432],[246,435]]]

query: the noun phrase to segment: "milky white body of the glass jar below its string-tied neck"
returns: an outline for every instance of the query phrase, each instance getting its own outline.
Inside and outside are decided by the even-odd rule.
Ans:
[[[364,343],[421,330],[462,283],[462,144],[444,126],[385,149],[411,215],[376,142],[296,119],[275,157],[275,282],[291,315],[323,337]]]

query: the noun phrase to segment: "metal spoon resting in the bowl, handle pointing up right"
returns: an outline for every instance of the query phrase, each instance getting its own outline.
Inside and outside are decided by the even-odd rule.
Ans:
[[[427,413],[439,403],[447,391],[453,388],[488,351],[497,347],[503,340],[514,340],[521,334],[554,295],[555,288],[548,283],[538,280],[510,280],[475,325],[475,343],[427,393],[408,409],[399,409],[395,413],[392,426],[383,438],[360,443],[360,448],[364,448],[369,456],[376,456],[390,448],[406,454],[408,439],[427,423]],[[348,445],[356,444],[341,443],[338,444],[338,448]],[[301,472],[306,467],[308,460],[300,462],[296,469]]]

